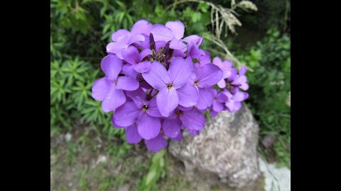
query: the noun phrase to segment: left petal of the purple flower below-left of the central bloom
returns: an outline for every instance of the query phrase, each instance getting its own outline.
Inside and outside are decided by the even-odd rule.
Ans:
[[[136,122],[142,110],[134,102],[126,102],[114,112],[114,122],[121,127],[128,127]]]

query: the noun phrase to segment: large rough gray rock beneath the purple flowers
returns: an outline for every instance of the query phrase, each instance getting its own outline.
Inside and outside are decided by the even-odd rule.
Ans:
[[[231,187],[247,187],[261,174],[258,132],[258,124],[243,105],[234,113],[220,112],[195,137],[184,132],[182,141],[171,141],[169,151],[185,163],[186,173],[194,179],[210,174]]]

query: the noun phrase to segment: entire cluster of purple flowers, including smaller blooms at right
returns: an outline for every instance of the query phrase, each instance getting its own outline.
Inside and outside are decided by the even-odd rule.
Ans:
[[[152,25],[137,21],[117,30],[102,59],[105,76],[92,86],[92,97],[104,112],[114,111],[112,124],[124,128],[126,141],[142,139],[149,151],[180,141],[183,132],[195,136],[205,127],[205,112],[234,112],[249,97],[247,71],[229,60],[200,50],[202,37],[183,37],[180,21]],[[243,91],[241,91],[243,90]]]

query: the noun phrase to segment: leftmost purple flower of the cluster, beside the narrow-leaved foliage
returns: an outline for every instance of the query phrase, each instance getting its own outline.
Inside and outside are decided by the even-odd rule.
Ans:
[[[122,68],[121,59],[114,54],[104,57],[101,68],[106,75],[98,79],[92,86],[92,98],[102,101],[102,110],[110,112],[126,102],[124,91],[134,91],[139,88],[139,81],[127,76],[119,76]]]

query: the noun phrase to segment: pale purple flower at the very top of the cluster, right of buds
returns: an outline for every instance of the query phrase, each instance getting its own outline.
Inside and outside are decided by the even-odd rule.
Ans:
[[[168,21],[166,25],[153,25],[151,28],[155,41],[171,41],[169,47],[174,50],[183,50],[187,45],[181,40],[185,33],[185,26],[180,21]]]

